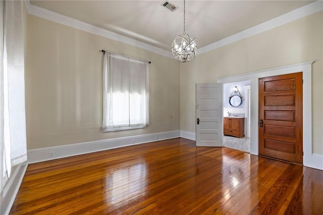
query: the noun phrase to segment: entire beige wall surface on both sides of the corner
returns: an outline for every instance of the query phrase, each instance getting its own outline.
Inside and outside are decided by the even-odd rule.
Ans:
[[[27,24],[28,149],[178,129],[195,132],[195,83],[314,60],[313,153],[323,154],[323,12],[203,53],[185,64],[32,15]],[[101,132],[100,49],[152,62],[148,128]]]

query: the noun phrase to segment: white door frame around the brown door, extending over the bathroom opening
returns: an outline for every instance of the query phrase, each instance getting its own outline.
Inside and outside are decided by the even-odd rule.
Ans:
[[[217,83],[231,83],[251,80],[250,84],[250,154],[258,155],[258,79],[276,75],[303,72],[303,165],[312,167],[312,63],[277,67],[241,75],[218,78]]]

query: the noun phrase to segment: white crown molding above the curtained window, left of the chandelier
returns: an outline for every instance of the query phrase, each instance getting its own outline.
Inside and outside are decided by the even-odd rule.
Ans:
[[[62,14],[58,14],[34,5],[31,5],[29,1],[26,1],[26,8],[29,14],[38,16],[53,22],[60,23],[62,25],[66,25],[72,28],[76,28],[82,31],[86,31],[92,34],[96,34],[99,36],[103,36],[105,38],[113,39],[119,42],[126,43],[128,45],[133,45],[138,48],[142,48],[148,51],[152,51],[154,53],[157,53],[159,55],[168,57],[168,58],[174,58],[171,51],[165,50],[163,48],[159,48],[153,45],[150,45],[145,42],[141,42],[139,40],[132,39],[127,36],[123,36],[121,34],[114,33],[112,31],[105,30],[103,28],[96,27],[94,25],[90,25],[88,23],[64,16]]]

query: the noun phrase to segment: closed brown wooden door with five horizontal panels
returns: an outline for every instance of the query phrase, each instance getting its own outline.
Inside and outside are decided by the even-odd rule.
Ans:
[[[259,155],[303,163],[302,72],[259,79]]]

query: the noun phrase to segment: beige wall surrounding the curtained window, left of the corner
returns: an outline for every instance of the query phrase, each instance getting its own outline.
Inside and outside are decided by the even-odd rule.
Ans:
[[[101,131],[101,49],[152,62],[147,128]],[[28,149],[180,129],[176,60],[28,15],[25,67]]]

